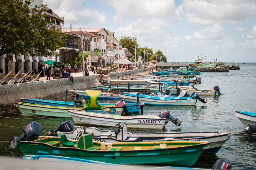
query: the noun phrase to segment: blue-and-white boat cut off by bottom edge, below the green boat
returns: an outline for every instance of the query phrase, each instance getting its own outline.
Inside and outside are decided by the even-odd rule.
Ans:
[[[136,168],[134,166],[127,166],[127,165],[120,165],[120,164],[110,164],[106,162],[100,162],[100,161],[93,161],[93,160],[87,160],[87,159],[79,159],[79,158],[72,158],[72,157],[64,157],[64,156],[56,156],[56,155],[26,155],[22,157],[25,160],[39,160],[39,161],[50,161],[50,162],[63,162],[63,163],[72,163],[76,164],[77,168],[77,163],[81,166],[117,166],[118,167],[126,167],[126,168]],[[150,167],[150,168],[161,168],[161,169],[168,169],[168,170],[193,170],[195,168],[185,168],[184,167],[173,167],[173,166],[158,166],[158,167]],[[201,169],[201,168],[196,168],[198,170],[211,170],[211,169]]]

